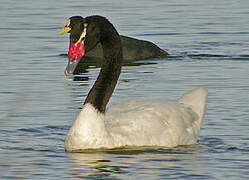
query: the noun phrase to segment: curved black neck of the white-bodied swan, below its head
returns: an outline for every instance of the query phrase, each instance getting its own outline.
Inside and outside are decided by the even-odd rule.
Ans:
[[[113,25],[105,18],[100,18],[98,21],[104,59],[99,76],[84,104],[91,103],[104,113],[121,72],[123,54],[119,34]]]

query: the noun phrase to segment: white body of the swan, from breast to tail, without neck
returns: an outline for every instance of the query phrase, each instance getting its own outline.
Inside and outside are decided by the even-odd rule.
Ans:
[[[198,88],[177,102],[133,100],[105,114],[85,104],[69,130],[66,150],[195,144],[206,99],[207,91]]]

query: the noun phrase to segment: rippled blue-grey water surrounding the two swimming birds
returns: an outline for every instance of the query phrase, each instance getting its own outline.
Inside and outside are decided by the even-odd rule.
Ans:
[[[4,1],[0,7],[1,179],[248,179],[249,2]],[[99,69],[65,78],[72,15],[107,16],[120,34],[172,56],[126,66],[109,106],[209,91],[198,145],[66,153],[64,139]],[[147,65],[146,65],[147,64]]]

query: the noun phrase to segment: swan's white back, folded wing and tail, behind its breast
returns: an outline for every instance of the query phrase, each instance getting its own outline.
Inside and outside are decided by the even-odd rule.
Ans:
[[[117,147],[195,144],[206,98],[207,91],[200,88],[186,93],[179,102],[135,99],[105,114],[106,129]]]

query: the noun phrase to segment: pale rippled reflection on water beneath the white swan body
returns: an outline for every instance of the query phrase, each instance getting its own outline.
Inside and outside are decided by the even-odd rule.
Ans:
[[[200,178],[205,175],[205,166],[201,161],[203,149],[199,145],[179,147],[174,149],[160,148],[132,148],[116,149],[103,152],[68,153],[68,156],[78,166],[73,170],[73,175],[81,178],[119,177],[129,178],[129,174],[143,172],[141,177],[154,177],[154,172],[161,171],[160,176],[170,178],[174,171],[183,165],[191,163],[186,169],[188,174]],[[133,178],[139,178],[135,175]],[[191,176],[189,176],[191,177]]]

